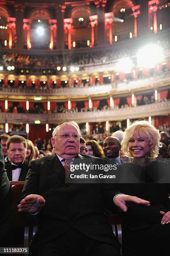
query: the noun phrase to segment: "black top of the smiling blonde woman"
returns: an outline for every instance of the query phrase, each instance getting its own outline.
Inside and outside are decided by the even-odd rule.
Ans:
[[[151,161],[148,166],[124,163],[117,169],[118,181],[114,187],[124,194],[137,196],[151,202],[150,207],[130,203],[127,212],[122,212],[124,227],[138,230],[160,223],[160,211],[168,211],[168,193],[170,193],[170,164]],[[166,182],[163,179],[166,178]],[[126,180],[128,184],[125,183]],[[160,183],[159,182],[164,182]]]

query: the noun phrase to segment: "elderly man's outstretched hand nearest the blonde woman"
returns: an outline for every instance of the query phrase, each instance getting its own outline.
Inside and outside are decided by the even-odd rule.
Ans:
[[[134,202],[136,204],[150,206],[149,201],[143,200],[139,197],[134,197],[134,196],[130,196],[130,195],[117,195],[114,198],[114,204],[116,206],[118,206],[124,212],[127,212],[126,202]]]

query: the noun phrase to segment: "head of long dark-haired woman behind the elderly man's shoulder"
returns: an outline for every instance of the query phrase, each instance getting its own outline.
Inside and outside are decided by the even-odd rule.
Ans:
[[[105,157],[103,148],[101,148],[101,146],[97,141],[94,141],[94,140],[86,141],[86,147],[87,147],[87,153],[86,153],[87,155],[96,156],[100,158]]]

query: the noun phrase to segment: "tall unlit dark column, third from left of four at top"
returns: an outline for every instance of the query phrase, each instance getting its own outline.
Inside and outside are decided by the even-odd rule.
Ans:
[[[98,26],[97,26],[97,45],[105,43],[105,24],[104,24],[104,9],[107,0],[94,0],[97,8]]]

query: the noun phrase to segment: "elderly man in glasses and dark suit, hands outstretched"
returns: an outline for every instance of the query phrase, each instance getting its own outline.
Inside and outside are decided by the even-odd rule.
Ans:
[[[113,197],[119,192],[103,184],[67,183],[70,164],[77,158],[84,162],[87,159],[79,154],[79,139],[78,129],[71,123],[63,123],[54,129],[51,138],[56,154],[29,164],[18,211],[39,215],[30,255],[120,255],[120,244],[104,214],[104,205],[112,208]],[[91,156],[89,159],[103,164],[102,159]],[[120,206],[125,198],[148,203],[127,195],[116,198]]]

